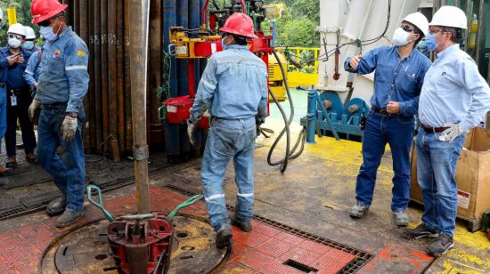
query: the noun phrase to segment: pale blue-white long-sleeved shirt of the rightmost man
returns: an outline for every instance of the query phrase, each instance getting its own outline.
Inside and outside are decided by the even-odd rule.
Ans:
[[[490,110],[490,89],[470,55],[459,44],[437,53],[421,91],[421,124],[459,124],[463,131],[478,125]]]

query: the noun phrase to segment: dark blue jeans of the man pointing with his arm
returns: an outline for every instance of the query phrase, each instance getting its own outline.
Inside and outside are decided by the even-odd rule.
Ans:
[[[413,117],[384,116],[370,113],[363,135],[363,165],[357,175],[357,204],[370,206],[376,173],[389,144],[393,158],[393,189],[391,210],[404,211],[410,201],[410,150],[413,142]]]

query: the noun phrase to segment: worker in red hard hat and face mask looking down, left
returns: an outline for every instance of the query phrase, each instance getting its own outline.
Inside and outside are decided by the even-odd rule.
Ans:
[[[88,89],[88,49],[67,26],[67,4],[56,0],[33,0],[32,23],[45,38],[37,93],[29,107],[32,119],[42,106],[37,127],[37,157],[61,190],[62,196],[47,206],[47,214],[61,214],[59,228],[77,222],[83,214],[85,156],[81,128],[83,100]],[[61,146],[63,157],[56,149]]]

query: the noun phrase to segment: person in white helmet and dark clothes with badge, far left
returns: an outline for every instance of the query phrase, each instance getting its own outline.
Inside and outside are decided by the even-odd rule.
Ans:
[[[32,97],[29,85],[24,80],[24,70],[31,52],[22,48],[25,42],[26,31],[24,26],[12,24],[8,30],[8,45],[0,49],[0,61],[7,63],[7,57],[16,56],[17,61],[9,64],[7,70],[7,131],[5,133],[5,148],[7,150],[6,167],[17,166],[16,141],[17,141],[17,119],[19,119],[22,141],[29,163],[36,163],[34,149],[36,148],[36,135],[34,126],[29,119],[29,105]]]

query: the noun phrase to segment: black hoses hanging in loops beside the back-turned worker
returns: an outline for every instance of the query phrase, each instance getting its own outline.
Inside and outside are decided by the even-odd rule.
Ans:
[[[303,127],[301,132],[298,135],[298,140],[295,142],[294,146],[292,149],[290,149],[290,125],[293,121],[294,118],[294,104],[292,102],[292,97],[290,94],[290,86],[288,85],[287,78],[286,78],[286,71],[282,67],[282,62],[279,59],[279,56],[277,55],[277,52],[273,51],[274,53],[274,58],[277,60],[277,63],[279,65],[279,68],[281,69],[282,73],[282,78],[284,79],[284,86],[286,87],[286,93],[288,93],[288,98],[290,101],[290,117],[288,118],[286,116],[286,113],[284,112],[284,109],[282,109],[282,106],[280,105],[279,101],[277,101],[277,98],[275,97],[274,93],[271,91],[269,88],[269,93],[271,94],[277,108],[281,112],[282,119],[284,120],[284,128],[282,129],[281,133],[277,136],[275,139],[273,145],[271,146],[271,149],[269,150],[269,154],[267,155],[267,164],[275,166],[275,165],[281,165],[281,173],[284,173],[286,171],[286,168],[288,167],[289,160],[292,160],[303,152],[305,149],[305,141],[306,141],[306,128]],[[272,161],[272,156],[274,154],[274,149],[276,148],[277,144],[279,141],[281,141],[282,136],[286,133],[286,155],[279,161],[273,162]],[[301,147],[298,152],[295,152],[296,149],[298,149],[298,145],[301,142]]]

